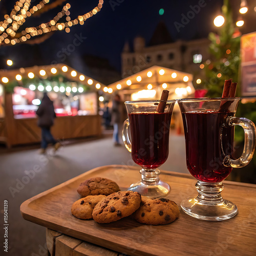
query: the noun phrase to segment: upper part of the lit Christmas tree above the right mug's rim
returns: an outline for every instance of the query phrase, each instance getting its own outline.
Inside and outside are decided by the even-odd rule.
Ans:
[[[226,79],[232,78],[233,82],[238,82],[240,33],[234,29],[228,0],[224,0],[222,15],[225,22],[218,34],[209,34],[209,51],[212,57],[204,63],[206,79],[202,83],[208,91],[207,97],[221,97]],[[239,88],[237,91],[239,92]]]

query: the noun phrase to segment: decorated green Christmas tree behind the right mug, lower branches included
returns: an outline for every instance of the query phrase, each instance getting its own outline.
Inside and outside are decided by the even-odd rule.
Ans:
[[[224,0],[222,6],[222,16],[225,22],[219,28],[218,33],[210,33],[209,51],[211,58],[206,60],[204,64],[206,79],[202,82],[202,86],[208,92],[207,97],[221,97],[226,79],[233,79],[233,82],[238,82],[236,96],[241,96],[240,81],[240,35],[238,29],[234,28],[232,21],[232,12],[228,0]],[[256,123],[256,104],[249,102],[246,104],[240,103],[236,116],[245,117]],[[244,145],[244,131],[241,127],[236,127],[235,135],[235,152],[234,158],[239,158],[242,154]],[[234,168],[228,179],[256,183],[256,155],[251,162],[243,168],[243,173],[240,169]],[[243,174],[243,175],[242,175]]]

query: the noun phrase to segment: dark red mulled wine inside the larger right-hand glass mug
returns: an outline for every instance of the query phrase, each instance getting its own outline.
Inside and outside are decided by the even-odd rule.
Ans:
[[[200,181],[221,182],[232,170],[223,165],[233,154],[234,127],[226,126],[227,116],[234,113],[182,113],[187,168]]]

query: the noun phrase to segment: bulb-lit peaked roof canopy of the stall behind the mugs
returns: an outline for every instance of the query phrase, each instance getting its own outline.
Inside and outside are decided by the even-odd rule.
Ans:
[[[152,85],[152,88],[162,86],[166,83],[167,87],[191,87],[195,90],[192,84],[193,75],[173,69],[168,69],[160,66],[153,66],[151,68],[142,70],[129,77],[123,78],[117,82],[111,83],[108,87],[113,90],[143,90],[148,89],[148,84]],[[165,84],[163,88],[165,87]],[[151,89],[152,89],[151,88]]]

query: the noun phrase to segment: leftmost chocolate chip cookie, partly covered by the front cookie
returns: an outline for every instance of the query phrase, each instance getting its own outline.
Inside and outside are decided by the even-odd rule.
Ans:
[[[73,203],[71,213],[78,219],[89,220],[92,219],[93,208],[95,205],[104,199],[106,196],[88,196],[81,198]]]

